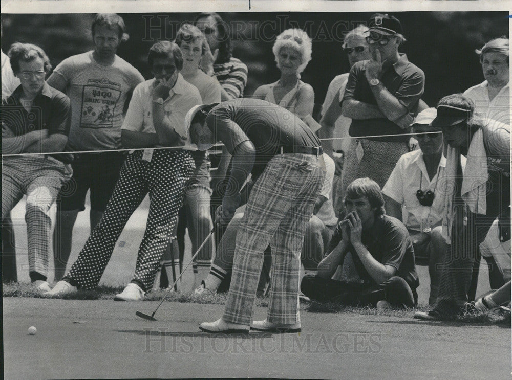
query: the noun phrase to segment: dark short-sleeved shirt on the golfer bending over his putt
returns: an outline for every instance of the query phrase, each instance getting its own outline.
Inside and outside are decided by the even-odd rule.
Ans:
[[[280,154],[282,146],[315,148],[321,145],[301,119],[279,105],[260,99],[241,98],[219,103],[208,113],[206,124],[230,154],[244,141],[254,144],[253,180],[263,173],[272,157]]]

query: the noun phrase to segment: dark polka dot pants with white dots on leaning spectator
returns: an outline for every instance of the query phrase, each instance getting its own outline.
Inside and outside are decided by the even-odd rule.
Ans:
[[[81,289],[98,285],[126,222],[149,192],[150,211],[134,280],[146,290],[151,289],[160,259],[175,230],[183,188],[193,173],[194,160],[186,150],[155,150],[151,162],[142,160],[142,151],[130,154],[103,217],[66,277]]]

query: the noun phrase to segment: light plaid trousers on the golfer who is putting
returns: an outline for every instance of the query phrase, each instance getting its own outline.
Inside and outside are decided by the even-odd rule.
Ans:
[[[273,269],[267,320],[285,324],[300,320],[301,250],[324,175],[311,154],[281,154],[269,161],[251,190],[237,232],[224,320],[250,323],[269,244]]]

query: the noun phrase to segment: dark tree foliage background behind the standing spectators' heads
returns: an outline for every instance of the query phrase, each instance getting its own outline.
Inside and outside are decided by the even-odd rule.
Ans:
[[[334,76],[349,70],[342,51],[344,33],[364,24],[368,13],[221,13],[231,27],[233,56],[247,64],[245,95],[261,84],[279,78],[272,44],[276,35],[290,27],[306,30],[313,39],[312,60],[302,74],[322,104]],[[197,13],[129,13],[124,18],[130,39],[118,55],[149,79],[146,55],[159,39],[174,39],[179,25]],[[508,36],[508,12],[398,12],[407,38],[400,51],[426,76],[423,100],[434,106],[444,95],[462,92],[483,81],[475,49],[489,39]],[[94,14],[3,14],[2,50],[15,41],[41,46],[53,66],[61,60],[92,49],[90,26]]]

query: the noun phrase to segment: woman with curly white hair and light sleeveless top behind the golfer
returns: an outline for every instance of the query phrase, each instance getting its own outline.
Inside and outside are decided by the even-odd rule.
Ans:
[[[281,77],[277,82],[258,87],[253,97],[288,109],[314,132],[320,128],[312,117],[315,93],[311,85],[301,80],[301,73],[311,60],[311,51],[311,38],[303,30],[287,29],[281,33],[272,47]]]

